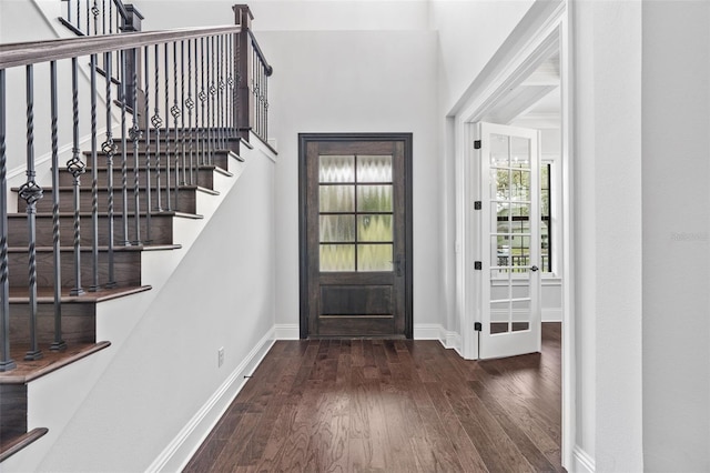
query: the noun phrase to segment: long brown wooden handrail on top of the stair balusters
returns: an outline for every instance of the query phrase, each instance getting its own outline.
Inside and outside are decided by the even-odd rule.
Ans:
[[[7,43],[0,44],[0,69],[241,31],[241,26],[231,24]]]

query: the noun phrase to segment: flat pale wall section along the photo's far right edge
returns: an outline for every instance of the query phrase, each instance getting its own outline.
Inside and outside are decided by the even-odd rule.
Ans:
[[[710,471],[710,3],[643,3],[643,466]]]

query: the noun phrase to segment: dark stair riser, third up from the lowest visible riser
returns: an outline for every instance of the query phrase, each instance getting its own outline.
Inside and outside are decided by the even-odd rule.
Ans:
[[[114,279],[120,286],[141,285],[141,252],[118,251],[114,252]],[[109,255],[99,252],[99,284],[109,282]],[[81,252],[81,282],[84,290],[93,283],[92,255],[89,251]],[[9,254],[10,288],[27,288],[29,284],[28,254],[24,252],[11,252]],[[72,253],[62,254],[61,259],[62,288],[74,286],[74,262]],[[50,252],[41,252],[37,255],[37,284],[38,286],[52,288],[54,280],[54,263]]]

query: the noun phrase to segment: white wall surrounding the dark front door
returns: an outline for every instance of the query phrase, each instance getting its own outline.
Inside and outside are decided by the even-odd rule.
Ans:
[[[270,61],[278,64],[270,83],[271,135],[280,152],[278,322],[298,321],[298,133],[413,132],[414,323],[442,323],[436,36],[300,31],[261,32],[258,38]]]

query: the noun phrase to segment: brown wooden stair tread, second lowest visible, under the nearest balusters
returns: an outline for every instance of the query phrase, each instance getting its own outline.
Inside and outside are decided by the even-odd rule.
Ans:
[[[81,343],[67,348],[63,352],[52,352],[49,348],[41,348],[43,358],[24,361],[27,346],[13,345],[10,356],[18,368],[0,373],[0,384],[26,384],[45,374],[57,371],[68,364],[89,356],[111,345],[111,342]]]

